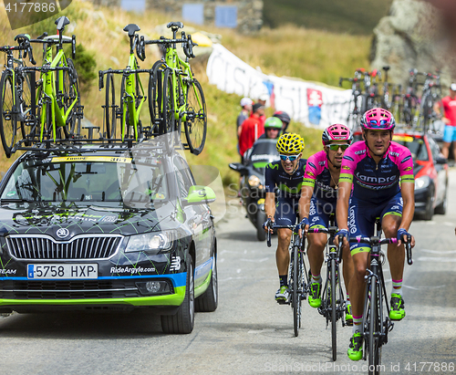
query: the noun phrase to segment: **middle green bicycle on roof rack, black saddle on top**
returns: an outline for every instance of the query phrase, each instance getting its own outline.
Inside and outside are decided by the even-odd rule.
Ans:
[[[127,68],[109,68],[108,70],[98,71],[99,90],[104,87],[104,76],[106,75],[105,105],[102,106],[105,127],[103,133],[106,134],[109,141],[124,141],[126,139],[138,141],[144,135],[158,135],[158,133],[153,133],[153,130],[147,131],[148,128],[143,127],[140,120],[140,110],[147,99],[140,81],[140,73],[151,74],[151,70],[140,69],[134,54],[136,49],[137,56],[141,61],[144,61],[145,55],[141,53],[139,36],[136,34],[140,31],[140,26],[130,24],[125,26],[123,31],[127,32],[130,38],[130,57]],[[119,105],[116,105],[115,74],[122,75]]]

